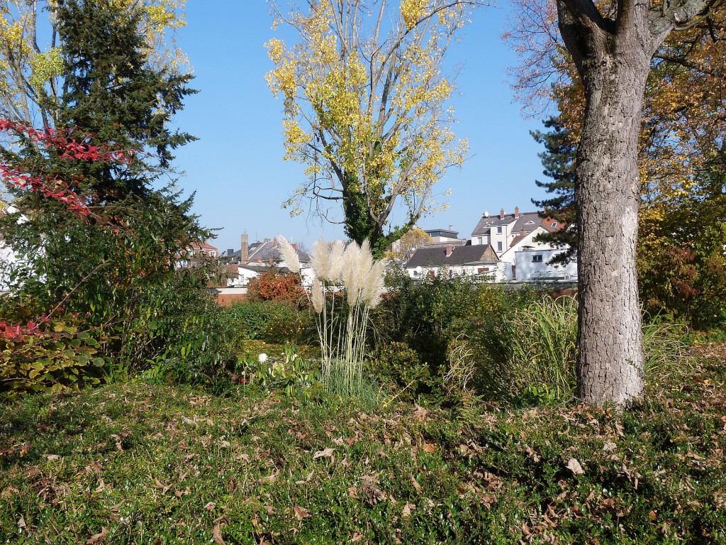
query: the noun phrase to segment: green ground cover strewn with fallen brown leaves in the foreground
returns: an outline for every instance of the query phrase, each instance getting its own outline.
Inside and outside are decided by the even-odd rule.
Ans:
[[[30,397],[0,408],[0,542],[726,543],[725,369],[624,416]]]

